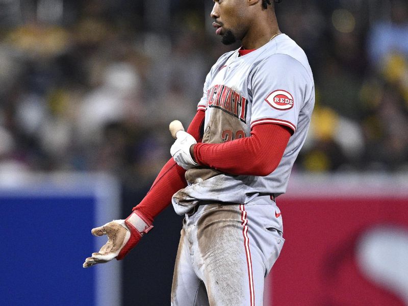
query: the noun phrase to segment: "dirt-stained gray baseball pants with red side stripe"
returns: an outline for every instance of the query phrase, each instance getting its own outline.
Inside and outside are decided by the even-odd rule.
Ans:
[[[171,305],[262,306],[282,233],[282,216],[269,196],[246,205],[197,206],[183,221]]]

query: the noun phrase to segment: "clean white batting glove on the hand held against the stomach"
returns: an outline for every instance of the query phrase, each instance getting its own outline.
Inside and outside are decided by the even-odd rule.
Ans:
[[[186,170],[198,166],[190,154],[190,147],[197,143],[194,137],[184,131],[177,132],[176,137],[177,139],[170,148],[170,154],[177,165]]]

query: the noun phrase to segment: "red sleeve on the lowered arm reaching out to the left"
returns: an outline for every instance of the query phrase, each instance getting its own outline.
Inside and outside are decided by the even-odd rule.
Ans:
[[[187,132],[197,142],[202,140],[200,131],[204,118],[205,112],[197,111],[187,129]],[[137,209],[152,222],[160,212],[170,205],[173,194],[187,186],[184,177],[185,172],[186,170],[177,165],[171,158],[160,171],[149,192],[133,210]]]

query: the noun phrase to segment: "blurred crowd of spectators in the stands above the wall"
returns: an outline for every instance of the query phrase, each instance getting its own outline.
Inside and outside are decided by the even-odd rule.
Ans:
[[[211,1],[0,1],[0,173],[108,171],[146,188],[168,123],[195,114],[224,52]],[[406,0],[284,0],[316,83],[294,171],[408,170]],[[0,175],[1,176],[1,175]]]

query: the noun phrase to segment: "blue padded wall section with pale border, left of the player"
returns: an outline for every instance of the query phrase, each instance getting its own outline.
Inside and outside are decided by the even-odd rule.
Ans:
[[[120,217],[118,181],[100,173],[0,177],[0,304],[120,305],[120,262],[82,267],[106,242],[91,228]]]

